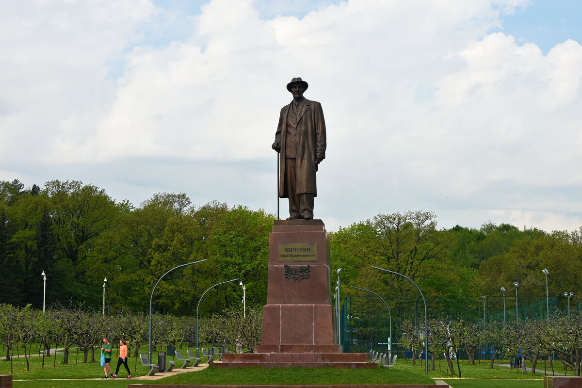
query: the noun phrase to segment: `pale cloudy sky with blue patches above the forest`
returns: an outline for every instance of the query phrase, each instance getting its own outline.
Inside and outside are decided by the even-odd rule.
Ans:
[[[577,229],[581,19],[579,0],[3,0],[0,180],[276,213],[300,76],[327,123],[328,230],[407,210]]]

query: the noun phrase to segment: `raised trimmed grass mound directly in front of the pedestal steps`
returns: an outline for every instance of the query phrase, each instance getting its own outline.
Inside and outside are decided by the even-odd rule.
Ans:
[[[200,372],[180,373],[151,384],[426,384],[434,380],[417,371],[398,371],[388,368],[340,369],[340,368],[207,368]]]

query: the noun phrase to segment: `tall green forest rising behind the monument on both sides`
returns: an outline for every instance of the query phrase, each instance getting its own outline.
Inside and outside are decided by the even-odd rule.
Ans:
[[[155,291],[154,311],[195,314],[200,296],[213,284],[239,277],[250,303],[267,301],[268,235],[275,216],[264,210],[211,201],[192,204],[186,194],[157,193],[134,207],[115,201],[103,188],[80,181],[49,181],[25,188],[18,180],[0,182],[0,294],[3,302],[42,308],[45,299],[107,310],[147,311],[154,284],[169,269],[201,259],[169,274]],[[439,229],[430,211],[379,213],[368,220],[328,231],[332,273],[343,268],[344,285],[385,296],[416,295],[406,279],[386,276],[372,266],[402,273],[437,300],[574,291],[582,282],[581,230],[544,232],[491,222],[479,229]],[[335,276],[335,275],[334,275]],[[332,279],[335,282],[335,279]],[[239,282],[209,291],[201,315],[240,304]],[[343,287],[341,297],[357,291]]]

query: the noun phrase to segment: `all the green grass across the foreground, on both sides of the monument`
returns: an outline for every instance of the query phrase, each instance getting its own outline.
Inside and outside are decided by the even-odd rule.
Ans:
[[[144,349],[145,350],[145,349]],[[185,349],[183,349],[185,351]],[[155,355],[154,357],[157,357]],[[14,387],[20,388],[61,388],[79,387],[93,388],[102,387],[106,384],[113,386],[123,385],[138,380],[126,380],[125,369],[120,369],[118,380],[62,380],[62,379],[87,379],[100,378],[103,369],[99,364],[74,364],[74,350],[69,355],[69,365],[62,364],[62,355],[56,355],[56,367],[52,366],[54,357],[45,358],[45,368],[41,369],[42,357],[31,357],[31,371],[26,371],[24,358],[13,359],[14,373],[13,379],[31,379],[33,381],[14,382]],[[171,358],[169,358],[171,359]],[[141,376],[147,373],[147,369],[137,362],[137,372],[134,372],[136,359],[129,359],[129,366],[133,376]],[[457,365],[455,364],[455,372]],[[523,375],[521,369],[516,370],[496,366],[489,368],[488,362],[482,362],[481,366],[470,365],[467,361],[460,361],[463,378],[454,378],[450,373],[445,373],[445,363],[441,364],[441,371],[430,371],[429,375],[424,373],[424,364],[419,362],[412,366],[406,362],[397,361],[395,368],[377,369],[219,369],[209,368],[201,372],[181,373],[169,378],[153,380],[152,383],[167,384],[432,384],[435,379],[445,380],[454,388],[465,387],[509,387],[509,388],[541,388],[543,386],[542,376],[544,367],[538,363],[537,375],[530,373]],[[529,363],[526,364],[530,366]],[[115,368],[113,365],[113,368]],[[541,368],[540,368],[541,367]],[[438,369],[438,362],[437,362]],[[562,372],[562,364],[555,362],[554,370]],[[551,371],[548,371],[551,374]],[[10,374],[10,361],[0,358],[0,374]],[[569,372],[572,375],[572,372]],[[51,379],[51,380],[40,380]]]

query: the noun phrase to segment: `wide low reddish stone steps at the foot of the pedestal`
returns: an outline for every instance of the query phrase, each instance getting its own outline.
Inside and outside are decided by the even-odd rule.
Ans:
[[[336,345],[337,346],[337,345]],[[303,368],[319,368],[332,366],[335,368],[378,368],[378,364],[366,362],[365,353],[245,353],[224,354],[222,363],[213,362],[210,366],[218,368],[287,368],[300,366]]]

